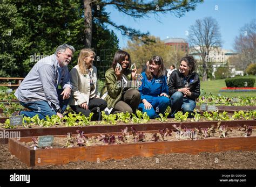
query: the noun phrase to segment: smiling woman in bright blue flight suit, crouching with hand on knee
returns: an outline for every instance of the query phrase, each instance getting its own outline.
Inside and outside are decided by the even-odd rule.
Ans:
[[[161,56],[153,56],[149,64],[146,71],[138,77],[141,98],[138,108],[153,119],[159,113],[164,114],[169,105],[169,96],[163,59]]]

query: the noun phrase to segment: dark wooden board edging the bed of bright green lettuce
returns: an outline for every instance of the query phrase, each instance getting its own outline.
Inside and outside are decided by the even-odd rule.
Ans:
[[[17,134],[20,137],[27,136],[42,136],[42,135],[66,135],[67,133],[75,134],[77,130],[87,133],[118,133],[121,132],[125,126],[135,127],[138,131],[156,131],[161,128],[169,128],[174,130],[172,125],[183,125],[187,128],[207,128],[211,125],[217,126],[218,121],[201,121],[201,122],[172,122],[172,123],[147,123],[147,124],[120,124],[120,125],[91,125],[91,126],[75,126],[75,127],[42,127],[42,128],[19,128],[19,129],[5,129],[0,128],[0,134]],[[241,125],[256,126],[256,120],[232,120],[221,121],[221,125],[228,125],[228,127],[240,127]],[[8,143],[8,138],[0,138],[0,143]]]

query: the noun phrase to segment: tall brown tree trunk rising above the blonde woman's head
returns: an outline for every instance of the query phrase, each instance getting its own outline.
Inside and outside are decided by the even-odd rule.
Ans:
[[[91,1],[84,0],[84,47],[91,48],[92,43],[92,8]]]

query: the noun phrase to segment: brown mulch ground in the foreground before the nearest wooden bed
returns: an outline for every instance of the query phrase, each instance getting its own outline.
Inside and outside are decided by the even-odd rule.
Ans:
[[[0,145],[0,169],[256,169],[256,151],[172,153],[99,163],[78,161],[60,166],[27,167],[8,152],[8,145]]]

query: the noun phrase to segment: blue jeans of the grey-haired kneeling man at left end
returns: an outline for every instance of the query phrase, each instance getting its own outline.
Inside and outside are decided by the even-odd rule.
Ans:
[[[62,89],[58,89],[58,100],[60,108],[62,109],[62,113],[66,110],[66,107],[69,103],[69,98],[63,100],[63,95],[61,96],[60,93],[62,93]],[[19,102],[22,106],[29,109],[30,111],[21,111],[19,114],[24,115],[26,117],[32,118],[33,116],[36,116],[38,114],[40,119],[45,119],[46,116],[51,117],[52,115],[56,115],[55,110],[46,102],[45,100],[37,100],[35,102]]]

